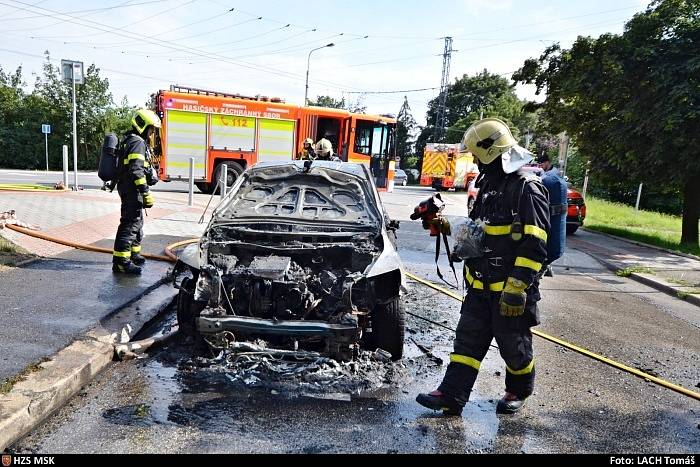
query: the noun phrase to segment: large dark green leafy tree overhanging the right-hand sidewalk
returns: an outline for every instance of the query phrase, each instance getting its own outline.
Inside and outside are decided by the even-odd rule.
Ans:
[[[690,245],[700,220],[699,41],[700,2],[656,0],[621,35],[551,46],[513,75],[546,91],[549,129],[572,136],[595,176],[677,188]]]

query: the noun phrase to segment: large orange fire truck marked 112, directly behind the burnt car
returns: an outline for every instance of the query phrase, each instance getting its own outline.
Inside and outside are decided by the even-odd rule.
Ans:
[[[157,166],[161,180],[189,180],[211,193],[227,166],[227,185],[261,161],[297,158],[303,141],[325,137],[342,161],[367,165],[379,190],[393,190],[396,119],[342,109],[301,107],[279,98],[181,86],[156,94],[162,119]]]

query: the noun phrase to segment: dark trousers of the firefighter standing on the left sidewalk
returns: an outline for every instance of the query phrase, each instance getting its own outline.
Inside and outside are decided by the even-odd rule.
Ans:
[[[114,262],[128,262],[132,254],[141,252],[143,240],[143,201],[138,190],[128,182],[117,187],[122,201],[121,219],[114,240]]]

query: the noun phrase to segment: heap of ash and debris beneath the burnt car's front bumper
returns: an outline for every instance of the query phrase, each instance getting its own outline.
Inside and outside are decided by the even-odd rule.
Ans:
[[[192,370],[224,374],[234,384],[286,394],[356,394],[399,387],[409,372],[381,349],[360,351],[357,359],[339,362],[316,352],[267,349],[263,341],[236,343],[214,358],[197,357]]]

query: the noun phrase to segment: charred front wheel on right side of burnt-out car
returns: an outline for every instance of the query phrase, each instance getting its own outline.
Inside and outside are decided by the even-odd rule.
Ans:
[[[401,299],[396,298],[386,305],[377,305],[372,311],[372,334],[368,349],[384,349],[391,359],[400,360],[403,356],[403,340],[406,314]]]

